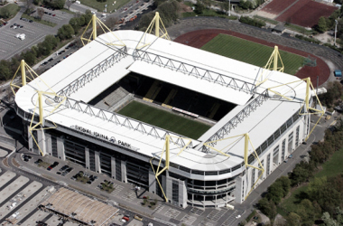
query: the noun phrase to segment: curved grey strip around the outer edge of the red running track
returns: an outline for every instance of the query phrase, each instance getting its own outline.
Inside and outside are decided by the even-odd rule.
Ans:
[[[180,21],[179,24],[172,25],[168,28],[168,33],[172,40],[183,33],[189,33],[200,29],[225,29],[236,33],[244,33],[268,42],[281,44],[292,47],[304,52],[311,52],[312,54],[322,58],[323,60],[332,61],[336,69],[343,69],[343,58],[338,52],[329,49],[325,46],[320,46],[311,42],[301,41],[296,38],[280,36],[273,34],[266,29],[260,29],[247,24],[241,24],[237,21],[230,21],[223,18],[216,17],[190,17]]]

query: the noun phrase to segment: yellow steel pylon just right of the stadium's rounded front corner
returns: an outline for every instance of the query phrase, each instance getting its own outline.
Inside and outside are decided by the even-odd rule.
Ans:
[[[217,143],[217,142],[220,142],[220,141],[223,141],[223,140],[227,140],[227,139],[232,139],[232,138],[236,138],[236,139],[233,142],[231,142],[230,144],[228,144],[227,146],[224,146],[221,150],[218,150],[217,148],[215,148],[213,146],[209,146],[209,144],[211,144],[211,143]],[[220,153],[222,155],[226,155],[226,156],[229,157],[230,155],[227,155],[226,153],[224,153],[223,150],[227,149],[229,146],[234,145],[241,138],[245,139],[245,142],[244,142],[244,163],[246,165],[246,171],[247,171],[247,167],[252,167],[252,168],[255,168],[255,169],[257,169],[257,170],[262,172],[262,174],[260,174],[258,176],[257,180],[255,181],[255,184],[251,187],[250,191],[246,194],[246,197],[245,197],[245,200],[246,200],[246,198],[249,196],[249,194],[253,191],[253,189],[254,189],[255,185],[257,184],[258,180],[264,174],[264,166],[261,164],[260,158],[258,157],[258,155],[257,155],[257,153],[255,151],[255,147],[253,146],[253,143],[250,140],[249,134],[246,133],[246,134],[241,134],[241,135],[237,135],[237,136],[234,136],[234,137],[226,137],[226,138],[222,138],[222,139],[218,139],[218,140],[214,140],[214,141],[209,141],[209,142],[205,143],[204,146],[208,146],[209,148],[217,151],[218,153]],[[252,150],[253,150],[252,152],[249,151],[249,144],[252,147]],[[252,154],[255,157],[255,159],[257,159],[259,167],[256,167],[254,165],[249,165],[249,162],[248,162],[249,154]],[[246,174],[247,174],[247,172],[246,172]]]

